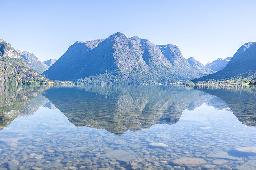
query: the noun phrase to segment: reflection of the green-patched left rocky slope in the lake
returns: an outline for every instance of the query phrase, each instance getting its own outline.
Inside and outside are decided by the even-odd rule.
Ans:
[[[49,86],[0,86],[0,129],[8,126],[15,117],[33,114],[43,101],[31,105],[31,101],[49,89]],[[46,98],[44,98],[46,100]],[[37,109],[36,109],[37,108]]]

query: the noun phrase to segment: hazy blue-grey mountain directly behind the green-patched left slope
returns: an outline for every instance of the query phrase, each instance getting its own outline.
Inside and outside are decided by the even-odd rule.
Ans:
[[[38,58],[33,53],[29,53],[27,51],[19,51],[19,50],[17,50],[17,52],[20,53],[20,55],[26,60],[28,65],[38,73],[41,74],[49,68],[49,66],[39,61]]]

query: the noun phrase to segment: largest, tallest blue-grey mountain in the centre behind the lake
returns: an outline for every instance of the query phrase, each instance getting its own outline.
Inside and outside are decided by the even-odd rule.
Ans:
[[[169,83],[205,75],[177,67],[148,39],[118,32],[106,39],[77,41],[43,75],[85,83]]]

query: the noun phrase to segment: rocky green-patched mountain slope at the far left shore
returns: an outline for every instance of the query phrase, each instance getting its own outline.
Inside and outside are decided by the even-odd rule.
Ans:
[[[0,84],[19,84],[31,81],[50,82],[28,66],[21,55],[0,39]]]

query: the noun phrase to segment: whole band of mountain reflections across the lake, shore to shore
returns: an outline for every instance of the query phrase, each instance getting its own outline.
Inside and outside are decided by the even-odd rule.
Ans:
[[[42,93],[43,92],[43,93]],[[42,93],[42,94],[41,94]],[[116,135],[175,124],[183,110],[206,103],[233,111],[247,126],[256,126],[255,90],[185,90],[171,85],[74,85],[0,87],[0,126],[39,107],[58,108],[77,127],[105,129]]]

